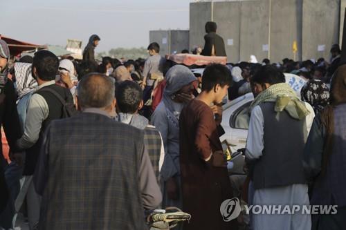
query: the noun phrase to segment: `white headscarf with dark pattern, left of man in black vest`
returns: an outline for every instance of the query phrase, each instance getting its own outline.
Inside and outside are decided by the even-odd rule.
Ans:
[[[30,63],[16,62],[15,77],[18,99],[35,90],[37,82],[31,75]]]

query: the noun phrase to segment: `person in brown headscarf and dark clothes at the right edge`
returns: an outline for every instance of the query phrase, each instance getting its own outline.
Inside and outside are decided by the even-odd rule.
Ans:
[[[346,229],[346,65],[331,79],[330,105],[313,120],[304,169],[313,182],[310,204],[336,206],[333,215],[312,215],[312,229]]]

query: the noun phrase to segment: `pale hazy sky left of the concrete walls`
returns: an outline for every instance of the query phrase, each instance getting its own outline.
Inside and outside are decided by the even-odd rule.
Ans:
[[[0,34],[66,46],[100,36],[97,52],[147,47],[149,30],[188,29],[190,0],[0,0]]]

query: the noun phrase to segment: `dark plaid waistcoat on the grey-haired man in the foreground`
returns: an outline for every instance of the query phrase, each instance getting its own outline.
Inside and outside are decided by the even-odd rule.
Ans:
[[[138,129],[96,113],[53,121],[41,153],[49,157],[40,157],[48,167],[40,161],[34,178],[44,192],[39,229],[145,229],[142,140]]]

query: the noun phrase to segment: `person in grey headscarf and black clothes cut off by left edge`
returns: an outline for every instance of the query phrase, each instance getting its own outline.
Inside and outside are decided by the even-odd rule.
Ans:
[[[17,151],[16,141],[21,137],[21,127],[16,108],[17,95],[15,87],[7,77],[9,60],[10,50],[8,45],[6,41],[0,39],[0,126],[3,126],[12,153],[10,154],[12,162],[8,164],[3,157],[2,148],[0,148],[0,229],[12,228],[12,218],[15,214],[14,201],[19,191],[18,186],[20,186],[17,176],[10,173],[10,167],[16,166],[15,160],[17,160],[17,164],[21,163],[19,155],[13,154]],[[6,180],[3,171],[8,172],[6,173]],[[6,208],[5,211],[3,211],[4,208]]]

